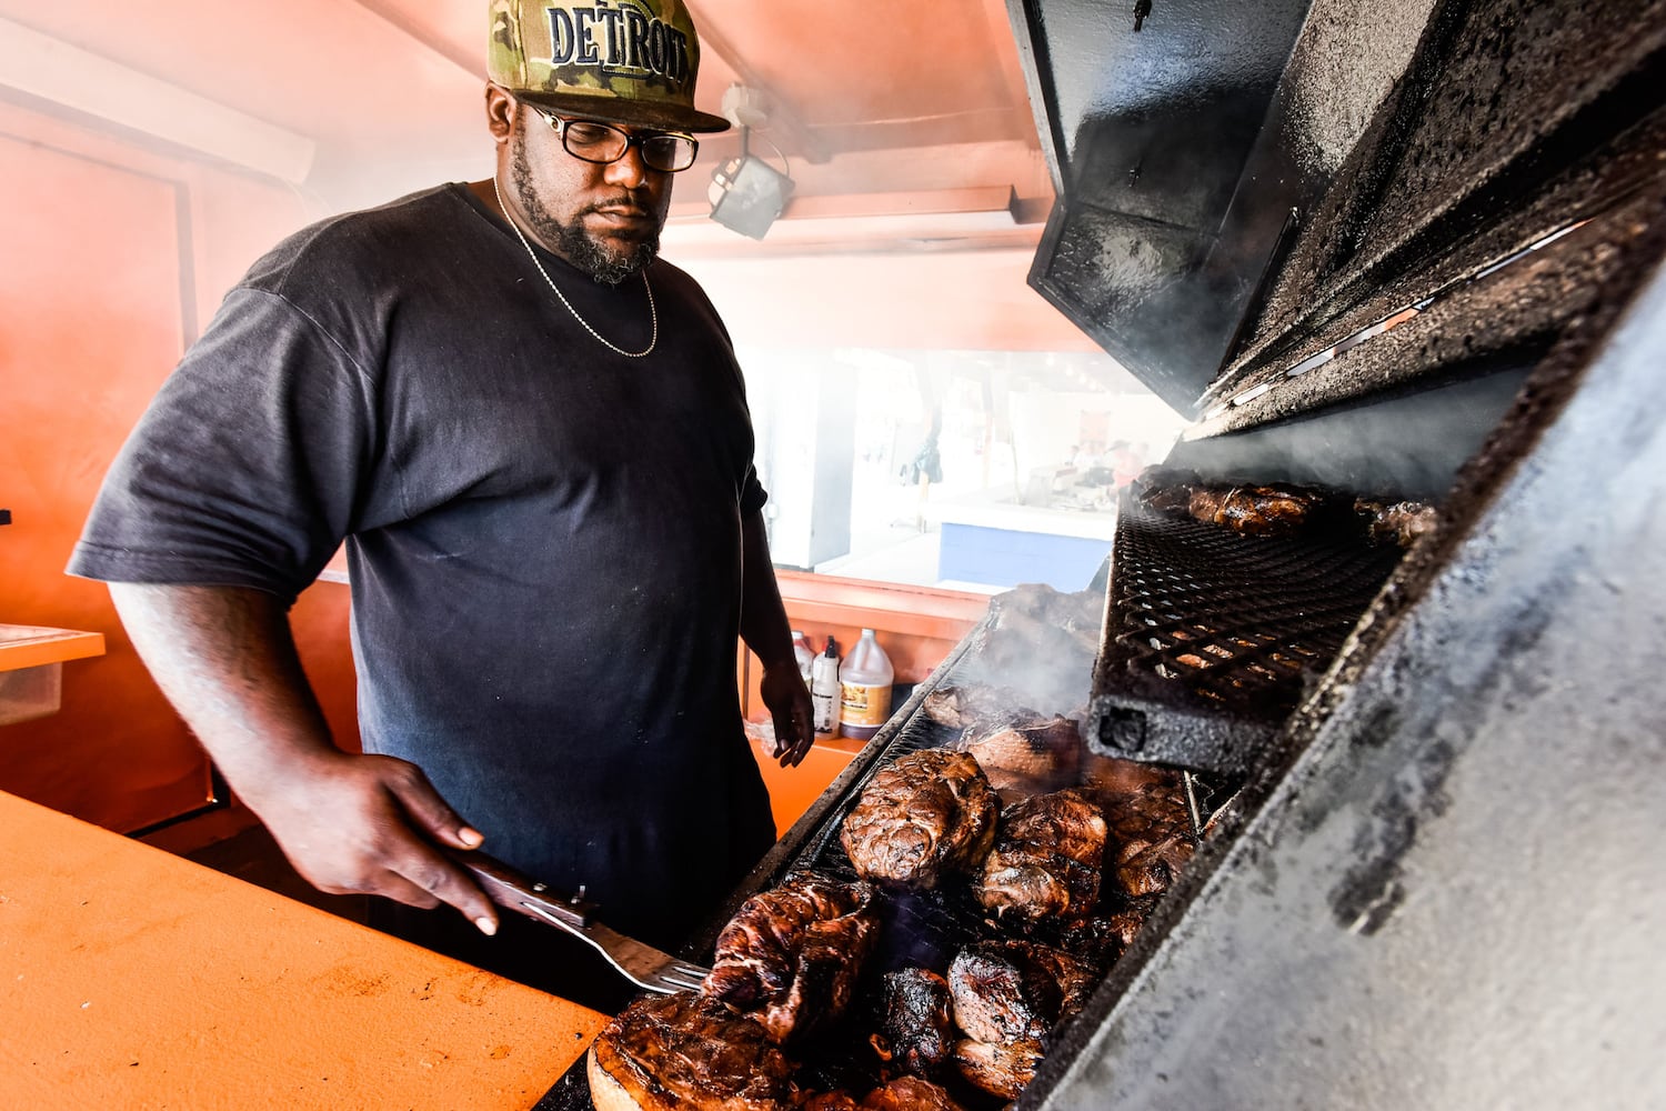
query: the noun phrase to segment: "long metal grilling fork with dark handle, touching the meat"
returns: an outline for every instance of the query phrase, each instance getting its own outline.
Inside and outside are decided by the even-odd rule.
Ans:
[[[698,991],[711,971],[608,929],[596,921],[598,906],[585,898],[583,888],[578,894],[561,894],[485,853],[446,853],[475,876],[493,903],[585,941],[638,988],[660,994]]]

